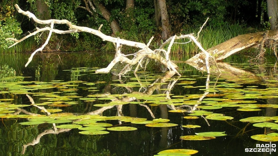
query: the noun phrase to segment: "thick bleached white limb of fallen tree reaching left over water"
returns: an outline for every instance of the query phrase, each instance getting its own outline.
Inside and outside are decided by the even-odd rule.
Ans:
[[[17,4],[15,5],[15,7],[17,8],[19,13],[21,13],[25,16],[28,16],[29,18],[32,18],[34,20],[34,22],[39,23],[39,24],[50,25],[50,27],[45,27],[42,29],[37,28],[37,30],[35,32],[25,36],[21,40],[17,40],[14,38],[7,38],[7,40],[12,40],[15,42],[12,45],[12,46],[14,46],[17,43],[25,40],[26,38],[29,38],[30,36],[37,34],[39,32],[49,31],[49,35],[48,35],[46,42],[39,49],[37,49],[36,51],[34,51],[32,53],[32,55],[28,59],[28,62],[25,65],[25,67],[28,66],[28,64],[32,61],[32,58],[36,54],[36,52],[42,51],[43,48],[47,45],[47,43],[50,39],[50,36],[52,35],[52,32],[57,33],[57,34],[68,34],[68,33],[73,33],[73,32],[87,32],[87,33],[94,34],[94,35],[100,37],[104,41],[113,42],[113,43],[118,44],[118,49],[116,49],[116,54],[115,54],[114,60],[107,66],[107,68],[96,70],[96,73],[109,72],[117,62],[126,62],[129,65],[134,65],[134,64],[137,64],[139,62],[139,60],[142,58],[151,58],[151,59],[157,60],[160,64],[167,67],[169,70],[173,70],[173,71],[175,71],[176,74],[180,75],[178,73],[178,71],[176,70],[176,68],[178,67],[176,64],[171,62],[170,59],[164,58],[162,55],[155,54],[155,52],[149,48],[149,45],[150,45],[153,37],[150,39],[150,41],[146,45],[146,44],[140,43],[140,42],[134,42],[134,41],[129,41],[129,40],[124,40],[124,39],[120,39],[120,38],[114,38],[111,36],[107,36],[100,31],[102,25],[100,25],[98,30],[95,30],[95,29],[88,28],[88,27],[81,27],[81,26],[73,25],[71,22],[69,22],[67,20],[57,20],[57,19],[40,20],[40,19],[36,18],[36,16],[34,14],[32,14],[31,12],[21,10],[21,8],[19,8],[19,6]],[[89,6],[86,6],[86,9],[87,8],[89,8]],[[83,8],[83,9],[85,9],[85,8]],[[69,27],[69,30],[62,31],[62,30],[53,29],[54,24],[66,24]],[[139,50],[137,53],[134,53],[134,58],[132,60],[130,60],[126,57],[128,55],[124,55],[120,52],[121,44],[140,48],[141,50]],[[10,47],[12,47],[12,46],[10,46]],[[168,53],[170,53],[170,51],[168,51]],[[140,62],[139,62],[139,64],[140,64]]]

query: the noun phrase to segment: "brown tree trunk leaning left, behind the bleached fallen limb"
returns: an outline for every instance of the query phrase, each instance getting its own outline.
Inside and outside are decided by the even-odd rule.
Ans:
[[[105,6],[103,5],[103,3],[100,3],[96,0],[93,0],[94,5],[96,5],[96,8],[98,8],[102,14],[102,16],[105,18],[105,20],[110,23],[110,27],[112,29],[112,35],[111,36],[115,36],[116,32],[120,32],[121,28],[119,23],[113,19],[112,21],[110,21],[110,17],[111,17],[111,13],[109,12],[109,10],[107,10],[107,8],[105,8]]]

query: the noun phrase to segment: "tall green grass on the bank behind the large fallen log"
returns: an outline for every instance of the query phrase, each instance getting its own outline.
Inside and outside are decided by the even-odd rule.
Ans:
[[[194,33],[197,36],[200,27],[185,27],[180,34],[177,35],[185,35]],[[239,24],[224,24],[213,26],[209,25],[202,29],[200,33],[200,37],[198,41],[202,44],[204,49],[209,49],[214,47],[226,40],[229,40],[235,36],[241,34],[248,34],[256,32],[256,29],[250,27],[244,27]],[[180,39],[176,40],[175,42],[185,43],[188,42],[189,39]],[[187,44],[173,44],[172,46],[172,53],[198,53],[200,52],[199,48],[193,43],[189,42]]]

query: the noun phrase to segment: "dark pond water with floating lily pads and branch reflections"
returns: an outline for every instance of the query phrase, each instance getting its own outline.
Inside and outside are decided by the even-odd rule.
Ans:
[[[162,72],[156,62],[150,62],[145,72],[122,77],[114,75],[122,65],[111,73],[95,74],[113,59],[109,53],[37,54],[25,68],[28,57],[0,56],[0,155],[151,156],[168,149],[197,150],[190,154],[194,156],[277,155],[278,125],[253,126],[278,120],[274,57],[259,66],[247,63],[247,57],[232,56],[226,60],[231,66],[223,65],[230,70],[209,77],[184,63],[178,63],[182,74],[178,77]],[[243,122],[248,117],[259,121]],[[51,122],[54,119],[57,123]],[[92,130],[82,134],[85,129],[61,129],[61,125],[104,127],[99,133],[107,134]],[[131,131],[114,131],[114,127]],[[201,132],[226,135],[210,140],[180,138]],[[274,136],[268,135],[266,142],[251,138],[264,139],[270,133]],[[270,141],[271,154],[246,152]]]

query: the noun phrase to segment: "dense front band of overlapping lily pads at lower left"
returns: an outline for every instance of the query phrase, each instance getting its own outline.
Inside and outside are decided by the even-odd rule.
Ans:
[[[2,114],[1,114],[2,115]],[[137,128],[128,127],[128,126],[119,126],[112,125],[105,122],[99,121],[107,121],[107,120],[119,120],[121,122],[131,122],[133,124],[145,124],[147,127],[172,127],[178,126],[177,124],[172,123],[164,123],[170,121],[169,119],[153,119],[147,120],[146,118],[133,118],[129,116],[100,116],[100,115],[80,115],[76,116],[73,113],[56,113],[50,114],[49,116],[45,115],[2,115],[1,118],[28,118],[28,122],[21,122],[21,125],[39,125],[39,124],[60,124],[60,123],[68,123],[72,122],[72,124],[64,124],[64,125],[55,125],[56,128],[63,129],[74,129],[78,128],[83,130],[79,133],[81,134],[90,134],[90,135],[98,135],[98,134],[107,134],[108,131],[133,131]],[[107,128],[109,127],[109,128]]]

